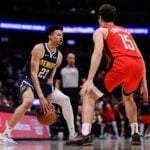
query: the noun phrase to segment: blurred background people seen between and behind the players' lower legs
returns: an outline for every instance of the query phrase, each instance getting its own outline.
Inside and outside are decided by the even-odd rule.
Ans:
[[[138,107],[140,134],[143,138],[150,138],[150,103],[145,102],[142,99],[136,99],[136,102]],[[57,121],[50,127],[52,140],[62,139],[62,134],[64,135],[64,130],[66,130],[63,125],[60,107],[56,106],[56,108]],[[76,116],[78,134],[81,134],[81,113],[82,101],[80,101],[78,106],[78,114]],[[92,125],[92,133],[94,138],[119,139],[123,137],[127,139],[131,136],[130,130],[130,124],[125,113],[123,99],[117,99],[113,95],[105,95],[97,101]],[[63,138],[65,139],[65,136]]]

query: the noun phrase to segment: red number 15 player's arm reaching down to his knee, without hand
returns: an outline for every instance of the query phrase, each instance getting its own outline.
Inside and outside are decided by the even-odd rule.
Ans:
[[[93,34],[93,41],[94,41],[94,51],[91,57],[91,64],[88,74],[88,81],[93,81],[93,78],[97,72],[97,69],[100,65],[102,55],[103,55],[103,47],[104,47],[104,38],[102,30],[99,28]]]

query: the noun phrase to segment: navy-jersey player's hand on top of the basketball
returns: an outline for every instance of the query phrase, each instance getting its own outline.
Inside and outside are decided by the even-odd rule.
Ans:
[[[49,102],[45,97],[40,98],[40,108],[41,108],[40,111],[43,111],[44,114],[50,109]]]

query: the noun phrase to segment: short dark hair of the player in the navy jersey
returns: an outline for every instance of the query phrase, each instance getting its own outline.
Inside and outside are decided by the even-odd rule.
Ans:
[[[47,29],[46,29],[46,35],[51,35],[55,30],[61,30],[63,31],[63,26],[62,25],[59,25],[59,24],[55,24],[55,25],[52,25],[52,26],[49,26]]]

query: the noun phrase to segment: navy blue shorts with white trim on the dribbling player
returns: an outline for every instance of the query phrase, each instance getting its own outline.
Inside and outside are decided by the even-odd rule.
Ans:
[[[31,79],[28,76],[22,77],[19,80],[19,85],[18,86],[19,86],[20,95],[22,95],[23,92],[25,92],[26,89],[28,87],[30,87],[32,89],[33,93],[34,93],[34,97],[38,98],[38,95],[35,91],[33,83],[32,83]],[[53,86],[48,85],[46,83],[40,83],[40,87],[41,87],[41,90],[42,90],[45,97],[47,97],[49,94],[51,94],[53,92],[53,89],[54,89]]]

